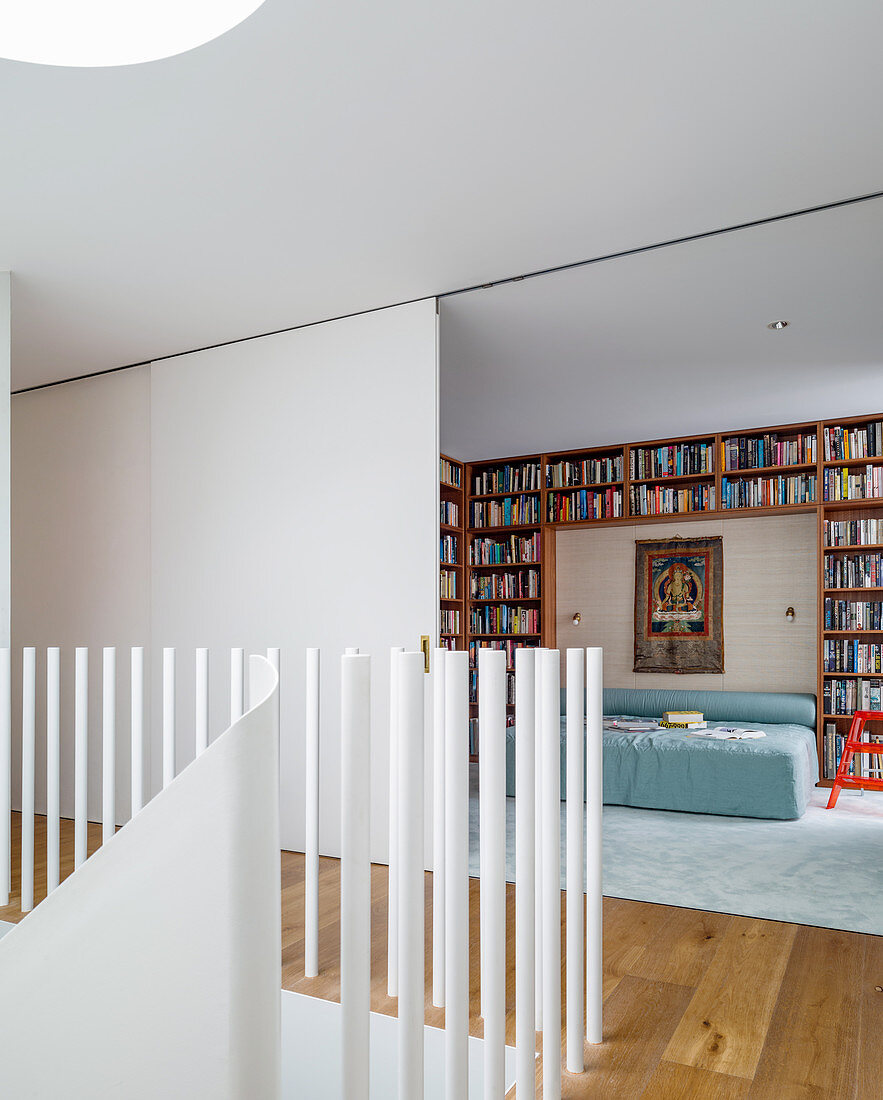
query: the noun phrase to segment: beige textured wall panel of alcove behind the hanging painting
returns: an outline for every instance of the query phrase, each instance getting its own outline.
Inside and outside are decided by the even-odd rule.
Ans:
[[[634,541],[724,537],[724,675],[634,673]],[[793,606],[794,623],[785,619]],[[580,612],[580,626],[572,623]],[[816,517],[688,520],[558,532],[558,645],[603,646],[608,688],[816,690]]]

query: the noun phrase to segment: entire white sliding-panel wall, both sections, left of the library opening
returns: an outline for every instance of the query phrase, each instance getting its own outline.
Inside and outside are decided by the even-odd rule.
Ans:
[[[435,343],[428,299],[13,400],[14,644],[143,640],[155,658],[178,646],[179,767],[194,751],[194,647],[282,647],[287,848],[303,843],[302,650],[320,646],[321,845],[339,853],[336,658],[355,645],[383,676],[372,851],[386,858],[388,649],[437,630]],[[213,733],[227,675],[212,668]],[[96,817],[97,725],[92,746]],[[65,783],[69,812],[69,771]],[[123,782],[122,820],[128,805]]]

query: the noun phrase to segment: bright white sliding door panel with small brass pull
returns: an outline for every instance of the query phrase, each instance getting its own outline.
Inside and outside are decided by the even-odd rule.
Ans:
[[[283,648],[287,848],[303,843],[303,649],[323,651],[321,845],[336,855],[339,657],[346,646],[374,654],[385,685],[389,647],[416,649],[421,634],[435,635],[435,378],[431,300],[153,366],[154,644]],[[219,688],[216,714],[225,705]],[[386,858],[382,691],[375,859]]]

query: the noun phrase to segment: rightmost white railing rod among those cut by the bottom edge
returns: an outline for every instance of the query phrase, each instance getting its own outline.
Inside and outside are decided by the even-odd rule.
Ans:
[[[561,658],[541,657],[543,838],[543,1100],[561,1100]]]

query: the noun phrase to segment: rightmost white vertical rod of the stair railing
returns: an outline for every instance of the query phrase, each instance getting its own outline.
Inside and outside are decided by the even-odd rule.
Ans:
[[[603,1038],[604,650],[586,650],[586,1038]]]

